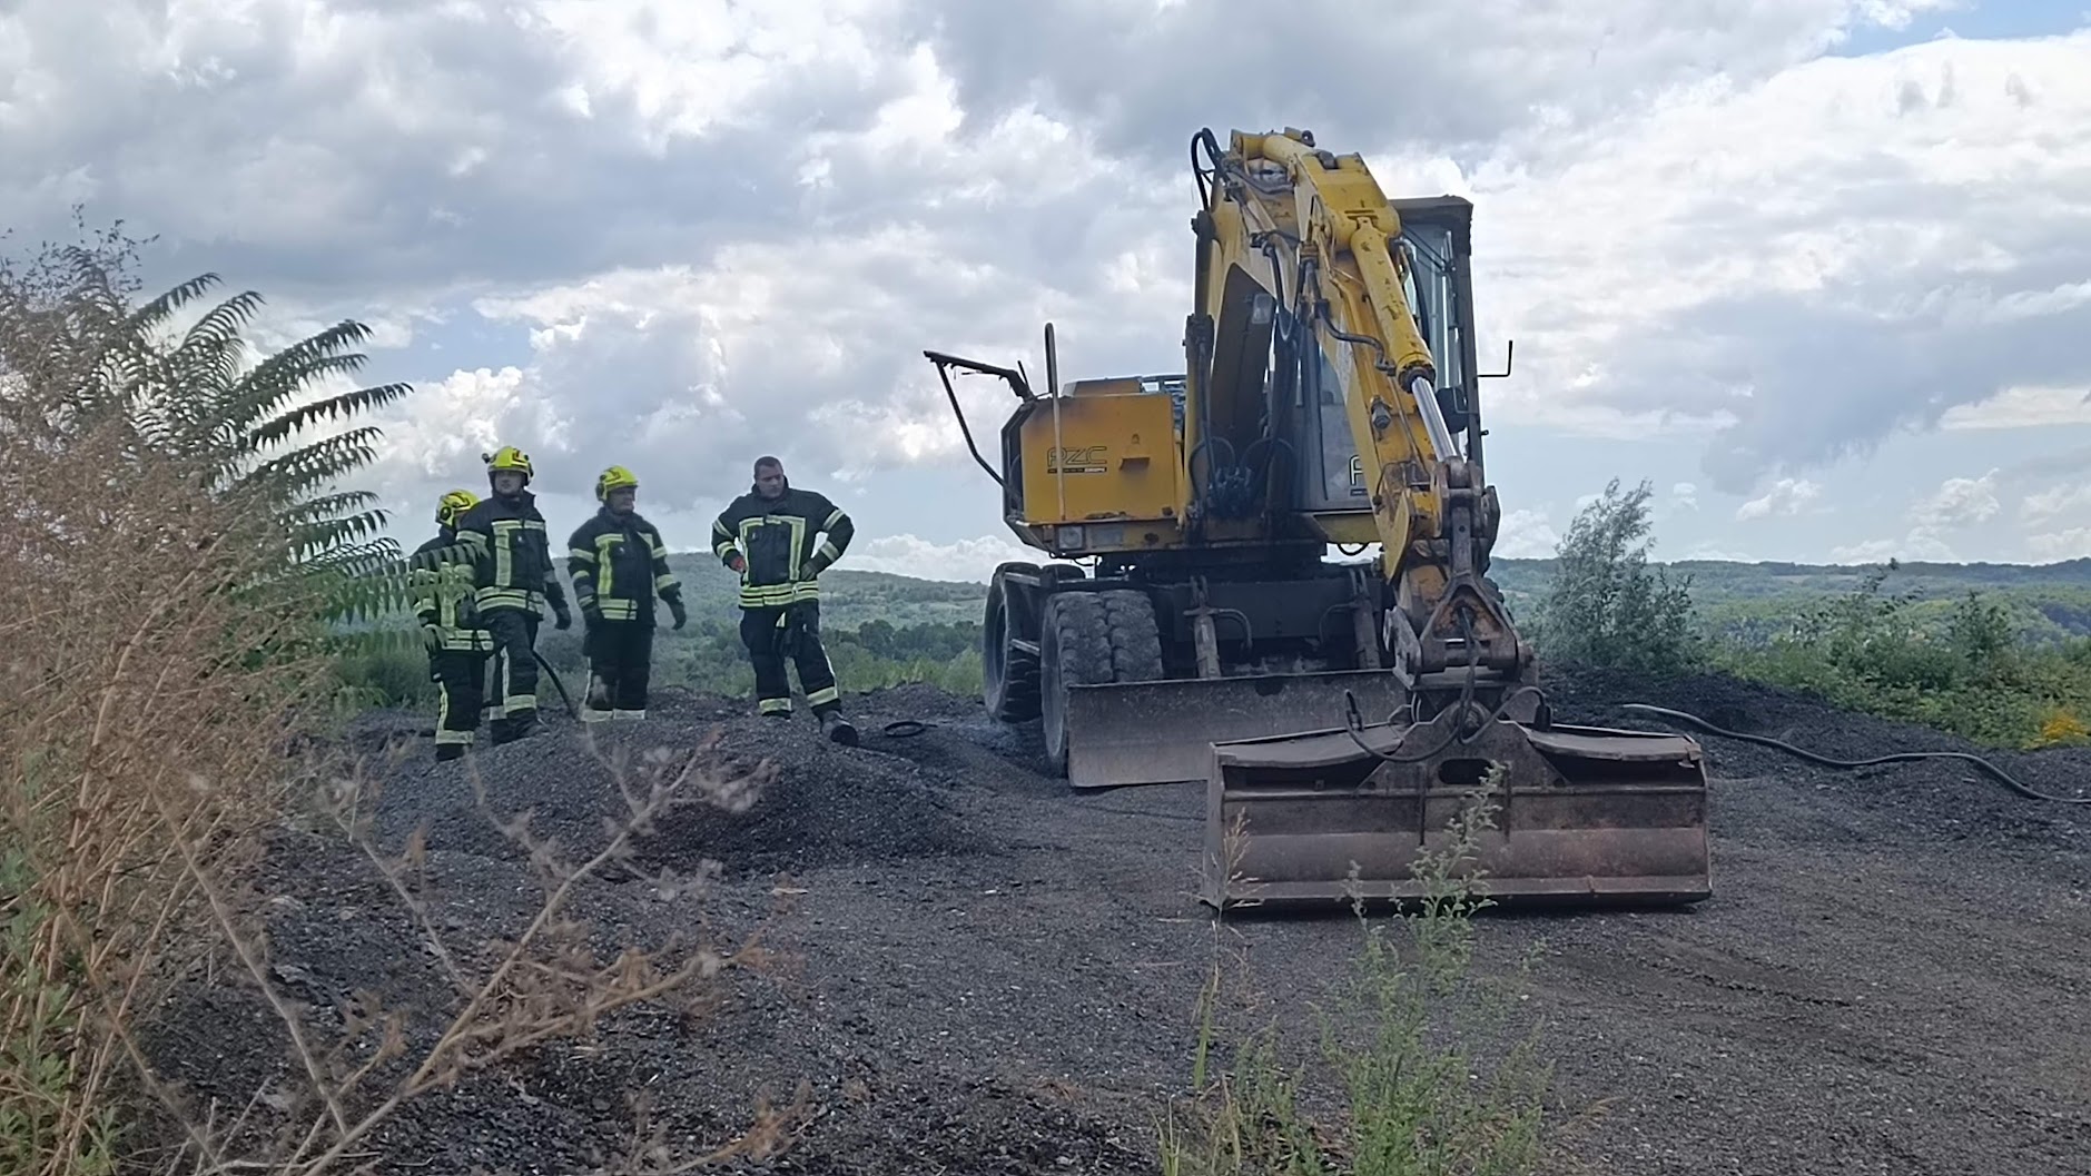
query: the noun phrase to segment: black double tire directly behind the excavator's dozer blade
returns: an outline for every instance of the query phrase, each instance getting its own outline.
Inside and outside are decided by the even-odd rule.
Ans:
[[[1154,602],[1133,589],[1052,593],[1039,627],[1039,662],[1046,760],[1064,775],[1071,685],[1161,681]]]

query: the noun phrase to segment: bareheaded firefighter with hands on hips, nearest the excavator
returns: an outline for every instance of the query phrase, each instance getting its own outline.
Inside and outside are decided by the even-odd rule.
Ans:
[[[755,460],[755,485],[711,524],[711,549],[740,574],[740,641],[755,666],[757,710],[790,719],[784,668],[797,662],[822,731],[849,746],[857,744],[857,729],[843,719],[843,693],[820,643],[820,572],[843,558],[853,535],[843,508],[818,491],[795,489],[776,457]]]

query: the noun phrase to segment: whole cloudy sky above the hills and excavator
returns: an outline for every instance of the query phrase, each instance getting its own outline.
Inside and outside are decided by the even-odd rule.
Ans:
[[[1618,476],[1660,558],[2091,556],[2091,0],[0,0],[0,228],[351,315],[479,453],[703,547],[755,453],[847,560],[1012,543],[922,349],[1175,370],[1190,136],[1476,203],[1503,554]],[[1282,8],[1282,17],[1280,17]],[[976,430],[1006,393],[962,384]]]

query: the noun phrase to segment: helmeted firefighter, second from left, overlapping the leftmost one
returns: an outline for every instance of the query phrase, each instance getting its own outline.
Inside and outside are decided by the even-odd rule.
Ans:
[[[537,729],[537,625],[544,606],[560,629],[573,625],[567,589],[546,543],[544,514],[529,493],[531,462],[514,445],[485,455],[489,497],[458,516],[458,541],[443,558],[473,566],[473,604],[493,637],[487,710],[493,746]]]

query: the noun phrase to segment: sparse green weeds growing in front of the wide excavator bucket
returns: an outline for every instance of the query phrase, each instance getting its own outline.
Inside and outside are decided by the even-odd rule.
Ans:
[[[1529,961],[1474,967],[1474,915],[1491,904],[1472,865],[1495,823],[1501,769],[1468,796],[1451,840],[1416,865],[1422,898],[1391,934],[1363,930],[1351,980],[1319,1009],[1319,1051],[1296,1059],[1276,1019],[1232,1038],[1221,1028],[1225,952],[1198,1003],[1192,1095],[1161,1124],[1163,1176],[1524,1176],[1541,1170],[1549,1065],[1537,1024],[1514,1028]],[[1401,946],[1405,942],[1405,946]],[[1215,1059],[1232,1055],[1232,1065]],[[1493,1057],[1489,1057],[1493,1055]],[[1326,1109],[1311,1109],[1315,1103]]]

